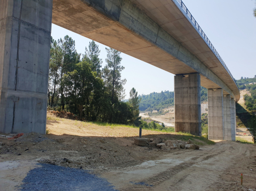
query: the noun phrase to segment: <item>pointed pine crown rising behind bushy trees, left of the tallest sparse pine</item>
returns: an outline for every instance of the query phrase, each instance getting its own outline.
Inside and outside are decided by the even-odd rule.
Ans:
[[[99,58],[100,50],[99,46],[95,44],[95,41],[89,42],[88,49],[86,47],[86,52],[83,55],[83,60],[90,64],[92,71],[96,71],[97,76],[100,76],[100,68],[102,64],[102,59]]]

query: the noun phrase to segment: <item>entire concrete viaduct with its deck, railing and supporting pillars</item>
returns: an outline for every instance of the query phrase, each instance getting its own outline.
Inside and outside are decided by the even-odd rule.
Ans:
[[[175,131],[235,140],[240,92],[181,0],[0,0],[0,132],[45,133],[51,25],[175,74]],[[168,84],[168,82],[166,82]]]

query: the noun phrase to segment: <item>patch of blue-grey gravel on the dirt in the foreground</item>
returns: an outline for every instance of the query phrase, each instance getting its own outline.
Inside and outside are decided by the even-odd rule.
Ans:
[[[116,190],[104,178],[88,174],[82,169],[65,168],[52,164],[40,164],[29,171],[20,190]]]

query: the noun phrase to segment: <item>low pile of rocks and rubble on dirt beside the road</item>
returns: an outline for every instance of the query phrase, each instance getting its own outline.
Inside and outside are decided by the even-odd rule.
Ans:
[[[157,139],[147,139],[147,138],[134,138],[134,144],[139,146],[147,146],[149,148],[158,148],[162,150],[172,150],[172,149],[192,149],[198,150],[199,146],[195,145],[191,140],[185,142],[181,140],[163,140],[161,138]]]

